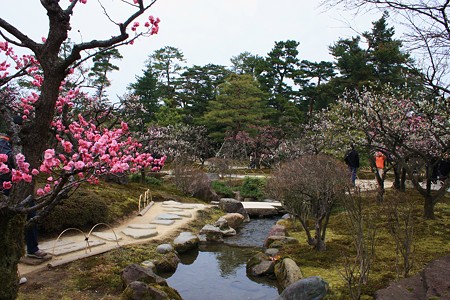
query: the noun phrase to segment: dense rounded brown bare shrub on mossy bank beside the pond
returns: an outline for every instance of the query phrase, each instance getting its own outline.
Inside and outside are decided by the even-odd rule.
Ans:
[[[350,184],[347,167],[325,155],[305,155],[279,167],[267,182],[267,193],[298,219],[309,245],[326,249],[325,234],[336,201]]]

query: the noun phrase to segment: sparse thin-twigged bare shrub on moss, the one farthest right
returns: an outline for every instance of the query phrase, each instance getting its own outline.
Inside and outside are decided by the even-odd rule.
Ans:
[[[386,197],[383,208],[389,233],[395,241],[397,277],[400,274],[407,277],[414,261],[414,206],[404,194],[395,191]]]

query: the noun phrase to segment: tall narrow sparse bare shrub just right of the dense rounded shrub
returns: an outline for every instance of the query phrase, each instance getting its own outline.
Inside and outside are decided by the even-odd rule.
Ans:
[[[342,274],[352,299],[361,298],[361,289],[369,279],[375,255],[375,222],[369,212],[364,212],[359,189],[348,189],[342,204],[355,254],[343,253],[344,273]]]

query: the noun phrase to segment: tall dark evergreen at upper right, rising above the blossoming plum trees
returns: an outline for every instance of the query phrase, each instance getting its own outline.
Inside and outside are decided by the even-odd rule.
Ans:
[[[381,90],[384,85],[394,89],[421,89],[418,73],[408,67],[412,63],[408,53],[401,50],[402,42],[394,39],[395,30],[388,27],[388,14],[373,22],[372,31],[352,39],[341,39],[330,47],[341,74],[330,83],[340,93],[345,89],[370,87]],[[364,38],[367,48],[360,46]]]

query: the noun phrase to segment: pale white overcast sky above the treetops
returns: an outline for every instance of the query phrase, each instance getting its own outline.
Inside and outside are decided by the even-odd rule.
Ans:
[[[129,7],[124,1],[101,1],[112,18],[124,21]],[[64,7],[69,1],[60,3]],[[75,8],[71,33],[74,41],[106,39],[114,33],[111,28],[116,30],[98,3],[88,0]],[[40,42],[47,35],[48,21],[39,0],[0,0],[0,5],[0,16],[29,37]],[[123,95],[135,76],[142,74],[147,57],[164,46],[180,49],[187,66],[230,66],[233,56],[244,51],[265,56],[275,41],[286,40],[300,42],[301,60],[332,61],[330,45],[341,37],[355,36],[355,30],[370,30],[371,22],[380,17],[354,17],[337,10],[323,12],[318,5],[318,0],[158,0],[146,14],[161,19],[158,35],[119,48],[124,58],[115,62],[120,71],[110,75],[108,94],[112,101],[115,95]],[[146,19],[139,21],[143,25]]]

